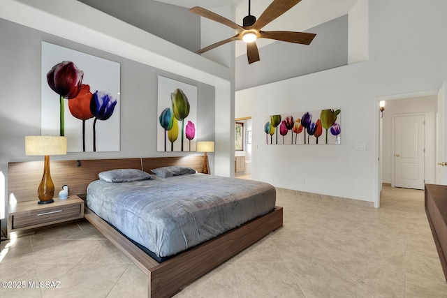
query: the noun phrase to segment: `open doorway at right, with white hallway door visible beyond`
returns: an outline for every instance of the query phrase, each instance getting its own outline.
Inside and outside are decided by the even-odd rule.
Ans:
[[[382,184],[390,185],[393,187],[406,187],[406,188],[416,188],[423,189],[424,180],[425,183],[434,183],[436,180],[436,152],[437,152],[437,91],[426,91],[420,92],[417,94],[402,94],[398,96],[383,96],[381,98],[376,98],[376,107],[377,107],[377,119],[378,121],[378,147],[376,148],[377,152],[377,195],[376,200],[374,201],[374,207],[380,207],[380,192],[382,188]],[[385,108],[383,112],[379,110],[379,101],[385,100]],[[422,160],[423,164],[414,165],[411,163],[405,163],[409,160],[403,160],[402,151],[397,152],[396,149],[402,149],[399,147],[395,147],[395,121],[400,121],[402,124],[402,120],[405,116],[416,116],[421,115],[425,121],[425,126],[423,126],[424,135],[421,136],[418,134],[419,140],[423,140],[422,145]],[[417,121],[421,121],[418,117]],[[414,119],[411,119],[411,122]],[[398,124],[398,126],[401,126]],[[419,124],[417,124],[419,125]],[[405,124],[404,130],[406,130],[406,137],[411,137],[411,133],[414,135],[414,131],[418,126],[416,124]],[[411,126],[411,128],[410,128]],[[402,126],[400,127],[402,131]],[[404,140],[404,155],[409,156],[408,147],[406,147],[406,142],[415,143],[416,139],[407,139]],[[400,142],[400,141],[399,141]],[[400,142],[402,144],[402,142]],[[416,142],[416,144],[418,144]],[[413,153],[413,152],[412,152]],[[395,155],[399,156],[395,156]],[[414,154],[413,154],[414,155]],[[400,161],[396,159],[400,158]],[[404,163],[402,163],[402,161]],[[403,166],[403,167],[402,167]],[[400,168],[400,172],[396,170]],[[412,171],[412,172],[411,172]],[[416,171],[416,172],[415,172]],[[418,174],[416,174],[418,173]],[[397,176],[396,176],[397,174]],[[411,177],[410,177],[411,174]],[[402,177],[403,175],[403,177]],[[404,178],[403,180],[413,180],[414,177],[418,175],[419,185],[405,185],[402,184],[402,180],[397,181],[398,179]],[[397,181],[397,184],[396,184]],[[422,181],[422,182],[420,182]],[[422,185],[421,185],[422,184]]]

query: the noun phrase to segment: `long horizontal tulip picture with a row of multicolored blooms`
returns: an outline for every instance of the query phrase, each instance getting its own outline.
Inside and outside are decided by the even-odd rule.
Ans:
[[[326,109],[276,114],[264,124],[265,144],[340,144],[340,112]]]

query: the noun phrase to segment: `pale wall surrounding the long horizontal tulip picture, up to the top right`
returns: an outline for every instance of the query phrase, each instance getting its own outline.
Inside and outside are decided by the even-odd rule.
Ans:
[[[368,61],[237,91],[236,101],[252,108],[252,178],[377,203],[378,100],[441,88],[447,79],[447,39],[439,38],[446,34],[446,10],[447,1],[369,1]],[[424,36],[423,43],[414,36]],[[268,115],[328,108],[342,110],[342,144],[265,145]],[[356,150],[357,144],[366,150]]]

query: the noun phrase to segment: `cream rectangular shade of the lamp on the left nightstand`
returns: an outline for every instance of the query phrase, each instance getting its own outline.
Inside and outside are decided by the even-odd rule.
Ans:
[[[25,155],[67,154],[67,138],[55,135],[25,136]]]

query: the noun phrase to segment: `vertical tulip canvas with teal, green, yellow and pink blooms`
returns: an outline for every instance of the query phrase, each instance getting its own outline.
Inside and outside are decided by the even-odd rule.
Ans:
[[[159,76],[157,151],[196,151],[197,87]]]

